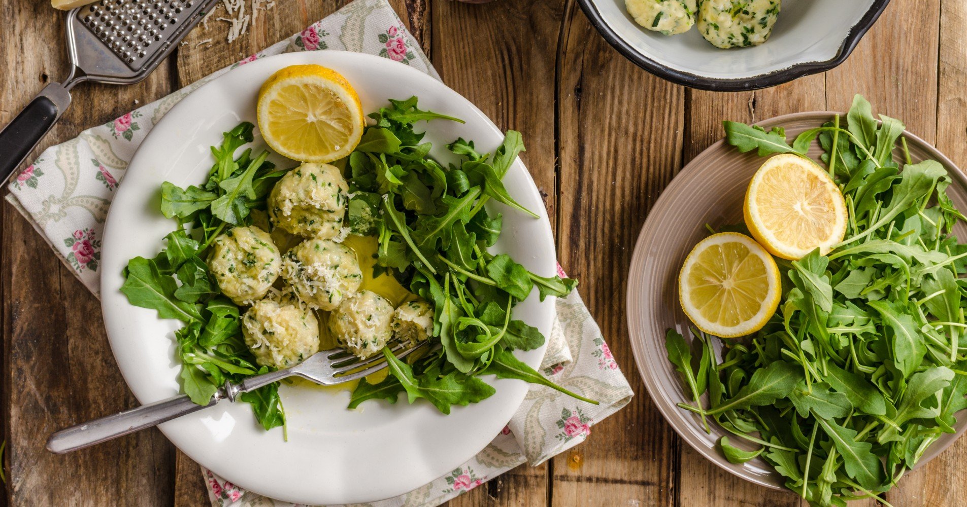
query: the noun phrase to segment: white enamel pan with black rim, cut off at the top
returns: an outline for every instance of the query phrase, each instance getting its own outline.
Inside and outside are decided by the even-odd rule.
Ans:
[[[841,64],[890,0],[782,0],[769,41],[719,49],[696,26],[665,36],[628,14],[625,0],[579,0],[601,36],[659,77],[706,90],[755,90]]]

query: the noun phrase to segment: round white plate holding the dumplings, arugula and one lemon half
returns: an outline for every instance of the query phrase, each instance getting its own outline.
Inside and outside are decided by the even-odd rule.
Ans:
[[[159,211],[162,182],[179,186],[204,182],[213,160],[209,146],[241,121],[255,123],[258,89],[273,72],[297,64],[319,64],[342,73],[359,92],[366,112],[388,99],[420,98],[420,107],[461,118],[466,124],[435,121],[425,127],[432,155],[450,159],[445,144],[473,139],[482,152],[496,149],[503,133],[484,113],[419,70],[359,53],[307,51],[251,62],[192,92],[151,131],[132,159],[107,216],[101,277],[102,307],[111,350],[121,373],[142,404],[180,392],[180,361],[173,331],[181,324],[137,308],[119,291],[121,270],[134,256],[153,257],[175,224]],[[264,143],[256,130],[256,150]],[[288,162],[289,165],[295,165]],[[284,167],[284,165],[283,165]],[[517,160],[504,179],[513,197],[541,214],[525,216],[501,205],[503,235],[492,249],[507,252],[542,276],[555,272],[550,223],[541,195]],[[536,291],[535,291],[536,293]],[[536,294],[518,304],[515,319],[537,326],[544,336],[553,321],[554,299]],[[537,368],[544,347],[519,358]],[[161,431],[191,459],[232,483],[274,498],[308,504],[368,502],[407,493],[440,477],[480,452],[511,419],[527,392],[521,380],[485,379],[497,393],[443,415],[423,401],[407,405],[366,402],[347,410],[349,393],[282,385],[289,441],[281,429],[257,426],[248,404],[220,405],[161,425]]]

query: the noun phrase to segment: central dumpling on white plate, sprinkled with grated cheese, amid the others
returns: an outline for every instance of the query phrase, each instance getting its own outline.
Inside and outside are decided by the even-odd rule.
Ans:
[[[282,256],[282,279],[310,308],[330,311],[363,283],[356,253],[329,239],[306,239]]]

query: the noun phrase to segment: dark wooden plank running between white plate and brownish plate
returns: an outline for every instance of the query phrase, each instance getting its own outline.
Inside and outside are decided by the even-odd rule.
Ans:
[[[677,505],[677,441],[631,357],[634,241],[681,168],[685,89],[640,70],[568,4],[558,69],[558,249],[636,396],[553,460],[554,505]]]

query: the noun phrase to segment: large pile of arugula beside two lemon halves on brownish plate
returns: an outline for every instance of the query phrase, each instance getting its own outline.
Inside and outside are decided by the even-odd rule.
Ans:
[[[773,465],[810,505],[886,503],[880,493],[954,433],[967,408],[967,245],[952,235],[965,217],[946,192],[951,178],[936,160],[913,163],[903,124],[877,121],[861,96],[845,125],[837,115],[791,145],[782,128],[724,127],[729,144],[760,156],[806,157],[818,140],[846,233],[825,255],[776,259],[777,311],[754,334],[693,329],[689,346],[667,331],[668,358],[692,397],[679,406],[707,432],[714,421],[754,444],[718,442],[731,463]]]

